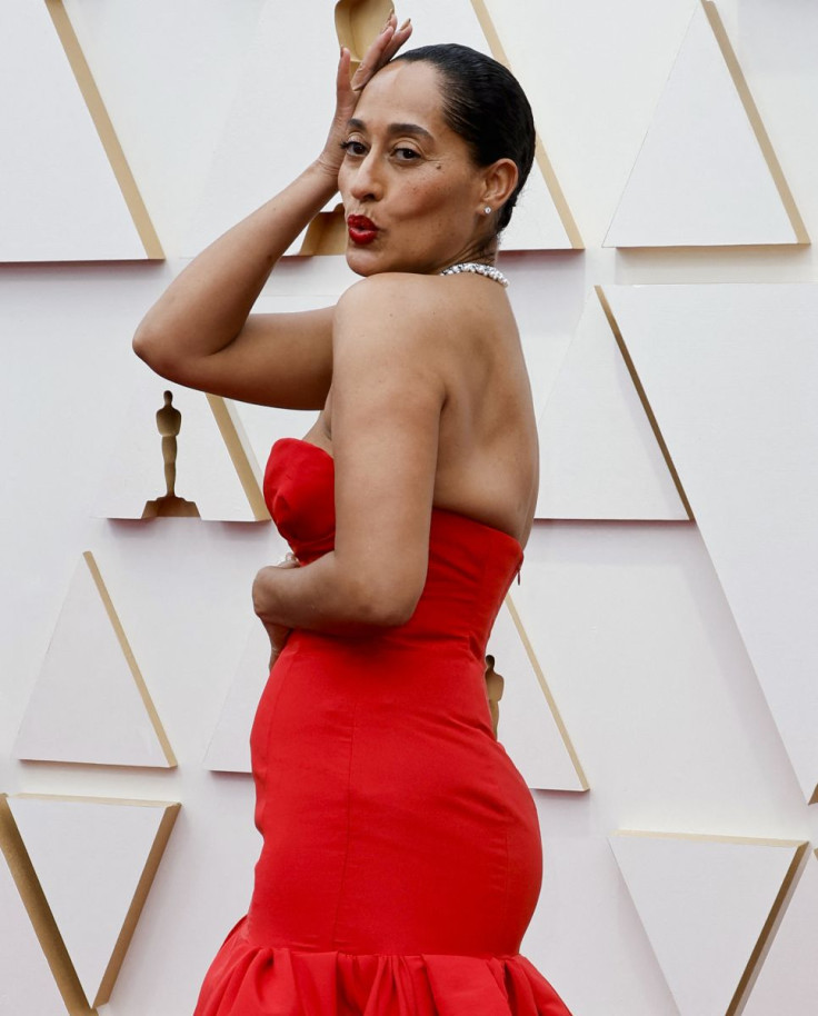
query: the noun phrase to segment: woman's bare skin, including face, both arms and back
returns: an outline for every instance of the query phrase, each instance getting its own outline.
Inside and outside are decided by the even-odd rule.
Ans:
[[[253,605],[273,661],[292,628],[359,632],[408,620],[426,580],[432,506],[521,545],[531,527],[537,432],[506,292],[480,276],[439,275],[491,260],[495,216],[485,207],[500,208],[517,169],[508,159],[473,165],[446,126],[431,66],[380,69],[410,31],[392,16],[351,82],[341,52],[321,156],[191,262],[134,337],[172,380],[321,409],[306,439],[336,460],[336,547],[257,575]],[[362,280],[335,308],[250,315],[276,260],[336,187],[348,216],[379,227],[371,243],[348,243]]]

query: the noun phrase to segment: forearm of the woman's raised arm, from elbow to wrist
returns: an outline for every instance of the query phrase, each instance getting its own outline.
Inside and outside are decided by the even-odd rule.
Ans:
[[[215,240],[148,311],[133,339],[137,352],[191,360],[228,346],[278,259],[336,190],[332,172],[316,161]]]

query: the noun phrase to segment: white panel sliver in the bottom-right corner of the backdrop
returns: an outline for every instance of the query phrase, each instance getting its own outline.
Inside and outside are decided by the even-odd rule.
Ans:
[[[818,858],[810,853],[742,1016],[818,1013]]]

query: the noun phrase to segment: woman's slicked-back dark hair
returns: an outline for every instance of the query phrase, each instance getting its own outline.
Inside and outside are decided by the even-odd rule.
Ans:
[[[392,62],[397,60],[425,61],[437,68],[446,83],[446,123],[468,142],[478,166],[498,159],[517,165],[517,187],[498,216],[500,232],[511,219],[533,162],[533,116],[520,82],[502,63],[457,42],[421,46],[399,53]]]

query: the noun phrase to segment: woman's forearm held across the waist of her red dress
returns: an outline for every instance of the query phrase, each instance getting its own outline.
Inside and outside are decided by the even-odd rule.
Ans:
[[[266,625],[328,634],[366,634],[403,624],[419,597],[415,582],[396,581],[381,569],[367,577],[345,567],[337,554],[301,568],[262,568],[253,584],[253,606]]]

